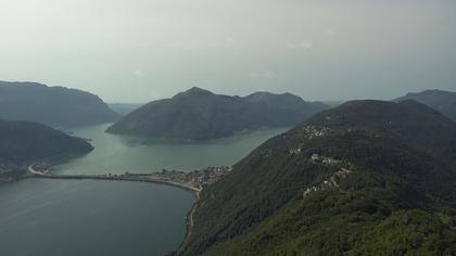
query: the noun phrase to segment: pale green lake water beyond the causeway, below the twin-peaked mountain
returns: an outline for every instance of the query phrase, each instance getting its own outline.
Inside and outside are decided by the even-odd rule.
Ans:
[[[91,139],[94,151],[53,168],[59,174],[151,172],[163,168],[190,171],[232,165],[267,139],[287,129],[256,131],[208,142],[154,141],[103,132],[109,125],[71,130]]]

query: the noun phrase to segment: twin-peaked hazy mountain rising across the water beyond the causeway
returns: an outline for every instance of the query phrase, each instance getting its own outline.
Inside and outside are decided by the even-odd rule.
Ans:
[[[216,139],[261,128],[288,127],[327,108],[290,93],[229,97],[192,88],[128,114],[107,132],[191,140]]]

